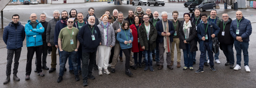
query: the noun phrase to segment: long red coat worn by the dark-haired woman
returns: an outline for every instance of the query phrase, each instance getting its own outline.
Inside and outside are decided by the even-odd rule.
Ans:
[[[141,24],[139,24],[140,26]],[[144,51],[138,42],[138,31],[135,27],[135,24],[130,25],[130,29],[132,30],[133,42],[132,42],[132,52],[140,52]]]

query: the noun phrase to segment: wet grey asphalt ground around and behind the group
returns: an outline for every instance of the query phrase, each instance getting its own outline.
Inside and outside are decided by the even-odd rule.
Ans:
[[[40,13],[45,13],[47,16],[46,21],[52,19],[52,13],[54,10],[67,10],[68,12],[75,8],[78,12],[83,12],[84,14],[88,14],[88,8],[94,7],[96,17],[100,17],[104,13],[105,10],[110,10],[111,13],[114,9],[118,9],[118,11],[124,12],[124,17],[128,16],[128,10],[135,10],[136,6],[132,5],[114,5],[107,4],[106,2],[89,2],[89,3],[80,3],[80,4],[38,4],[38,5],[8,5],[3,10],[4,12],[4,27],[11,22],[11,18],[13,14],[20,15],[20,22],[22,25],[27,23],[29,20],[29,16],[31,13],[36,13],[38,15],[38,20]],[[152,13],[154,11],[168,12],[168,19],[172,19],[172,11],[179,11],[179,19],[182,20],[183,13],[189,12],[188,8],[183,6],[183,3],[166,3],[165,6],[142,6],[144,10],[146,8],[150,8]],[[221,17],[222,13],[228,13],[230,18],[235,19],[235,12],[237,10],[232,10],[228,7],[228,10],[224,9],[224,4],[220,4],[220,9],[217,9],[218,17]],[[252,28],[256,28],[256,9],[242,9],[241,10],[246,19],[249,19],[252,23]],[[189,12],[192,13],[192,12]],[[210,10],[206,10],[202,13],[210,14]],[[243,67],[243,57],[242,57],[242,69],[238,71],[234,71],[233,69],[229,69],[228,66],[224,66],[226,63],[226,57],[223,52],[220,51],[220,64],[214,62],[216,72],[212,72],[210,67],[204,67],[204,73],[196,74],[194,73],[199,67],[199,57],[200,51],[197,51],[196,56],[196,65],[194,65],[194,70],[182,70],[184,67],[184,59],[183,52],[181,55],[181,65],[182,67],[177,68],[176,65],[176,57],[177,53],[175,52],[175,63],[174,69],[170,70],[166,67],[166,61],[164,63],[164,68],[162,70],[158,70],[156,66],[156,62],[153,61],[154,71],[144,71],[144,66],[142,68],[138,68],[137,70],[132,70],[132,77],[128,77],[125,75],[125,62],[118,61],[116,65],[116,73],[111,73],[110,75],[103,74],[101,76],[98,75],[97,70],[93,70],[93,75],[96,77],[94,80],[88,79],[89,88],[256,88],[256,35],[255,30],[252,30],[252,34],[250,36],[250,45],[249,45],[249,66],[251,72],[248,73],[245,71]],[[58,73],[59,73],[59,65],[56,66],[57,70],[53,73],[48,73],[48,70],[43,70],[45,74],[44,77],[38,76],[34,73],[35,65],[34,61],[32,61],[32,73],[30,75],[30,80],[25,80],[25,69],[26,69],[26,40],[24,41],[22,47],[22,53],[19,61],[18,68],[18,77],[20,81],[10,80],[8,84],[2,84],[6,78],[6,57],[7,57],[7,49],[6,45],[2,40],[3,29],[0,30],[0,88],[77,88],[82,87],[82,75],[80,75],[80,81],[76,82],[74,79],[74,75],[70,74],[68,71],[64,73],[63,81],[57,83]],[[199,45],[198,45],[199,48]],[[176,49],[175,49],[176,51]],[[58,52],[57,52],[58,53]],[[234,49],[235,62],[236,62],[236,50]],[[124,55],[123,55],[124,56]],[[34,55],[35,58],[35,55]],[[33,59],[34,59],[33,58]],[[57,56],[59,58],[59,56]],[[125,58],[125,56],[123,57]],[[166,57],[164,57],[166,58]],[[98,57],[96,57],[98,61]],[[59,62],[57,60],[57,62]],[[47,56],[47,66],[50,68],[51,56],[48,54]],[[98,64],[98,62],[97,62]],[[66,64],[68,67],[68,63]],[[12,64],[13,68],[13,64]],[[110,70],[110,68],[109,68]],[[11,78],[13,75],[11,75]]]

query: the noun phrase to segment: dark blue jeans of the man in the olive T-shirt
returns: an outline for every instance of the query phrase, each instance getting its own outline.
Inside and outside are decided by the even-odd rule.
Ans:
[[[74,66],[74,73],[75,75],[78,75],[78,68],[77,68],[77,58],[76,58],[76,53],[75,51],[73,52],[66,52],[66,51],[61,51],[61,56],[60,56],[60,73],[59,76],[63,76],[64,74],[64,68],[65,65],[67,63],[67,60],[69,59],[68,57],[71,57],[70,59],[72,59],[72,63]]]

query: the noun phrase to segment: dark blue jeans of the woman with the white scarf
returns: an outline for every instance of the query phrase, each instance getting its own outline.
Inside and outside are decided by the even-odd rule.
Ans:
[[[186,44],[186,49],[182,50],[185,67],[193,67],[193,52],[190,52],[190,44]]]

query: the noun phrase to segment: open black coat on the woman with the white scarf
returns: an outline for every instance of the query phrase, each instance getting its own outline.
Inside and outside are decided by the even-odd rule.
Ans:
[[[195,38],[196,38],[196,25],[192,22],[191,22],[191,25],[192,27],[189,27],[189,37],[188,39],[186,40],[185,39],[185,34],[184,34],[184,21],[180,21],[180,27],[179,27],[179,34],[180,34],[180,49],[186,49],[186,44],[183,42],[184,40],[186,40],[186,42],[189,42],[190,44],[190,52],[195,52],[195,51],[198,51],[198,48],[197,48],[197,41],[195,41]]]

